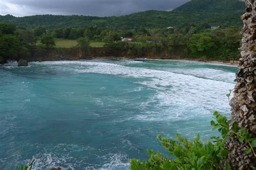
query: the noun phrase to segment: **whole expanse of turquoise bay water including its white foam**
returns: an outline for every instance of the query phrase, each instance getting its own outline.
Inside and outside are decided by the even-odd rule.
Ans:
[[[0,169],[129,169],[158,134],[214,132],[236,67],[193,61],[90,60],[0,67]]]

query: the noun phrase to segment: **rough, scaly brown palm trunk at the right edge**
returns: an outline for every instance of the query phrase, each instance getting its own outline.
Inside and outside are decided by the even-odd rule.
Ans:
[[[256,0],[245,0],[246,13],[242,15],[244,28],[242,29],[241,58],[239,59],[239,72],[232,107],[231,123],[238,122],[238,127],[245,127],[256,137]],[[240,143],[233,136],[227,140],[226,147],[230,151],[228,161],[233,169],[253,169],[256,159],[253,153],[245,154],[246,143]],[[255,151],[254,151],[255,152]]]

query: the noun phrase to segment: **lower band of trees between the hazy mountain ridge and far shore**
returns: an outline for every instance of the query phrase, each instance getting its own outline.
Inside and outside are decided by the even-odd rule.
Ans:
[[[121,42],[121,37],[131,37],[133,42]],[[86,49],[84,55],[90,55],[91,41],[105,42],[105,53],[99,55],[223,61],[238,60],[241,43],[240,27],[211,30],[207,24],[171,29],[128,30],[100,27],[25,29],[12,24],[0,24],[1,62],[31,56],[38,48],[54,48],[55,38],[86,41],[82,45],[78,43],[80,49]]]

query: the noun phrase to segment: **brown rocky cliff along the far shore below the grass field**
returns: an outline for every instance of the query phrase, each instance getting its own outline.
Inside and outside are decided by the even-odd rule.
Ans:
[[[149,58],[149,59],[184,59],[186,55],[184,53],[173,53],[167,54],[162,53],[152,53],[143,52],[140,55],[135,55],[129,52],[119,52],[111,51],[109,52],[105,48],[92,47],[90,49],[90,54],[83,55],[83,53],[78,48],[35,48],[31,56],[24,58],[27,61],[57,61],[57,60],[80,60],[80,59],[115,59],[115,58]],[[16,59],[9,59],[16,60]]]

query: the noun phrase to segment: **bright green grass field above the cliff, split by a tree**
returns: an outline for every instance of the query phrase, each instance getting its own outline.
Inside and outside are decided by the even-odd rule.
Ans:
[[[69,39],[55,39],[57,48],[70,48],[75,47],[77,45],[77,40],[69,40]],[[103,47],[104,42],[91,42],[91,47]],[[40,42],[37,42],[37,45],[40,45]]]

